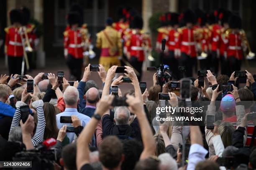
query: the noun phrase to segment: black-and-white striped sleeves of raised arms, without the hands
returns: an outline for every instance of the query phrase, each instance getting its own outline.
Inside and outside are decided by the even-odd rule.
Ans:
[[[45,122],[45,118],[44,118],[44,110],[42,106],[39,106],[36,108],[36,112],[37,112],[37,119],[38,119],[38,123],[36,125],[36,133],[34,134],[32,140],[32,143],[34,146],[36,146],[38,143],[43,142],[44,140],[44,128],[46,125]],[[13,116],[13,121],[12,121],[12,125],[10,127],[10,131],[12,131],[12,129],[14,127],[19,126],[20,124],[20,108],[18,107],[14,113]]]

